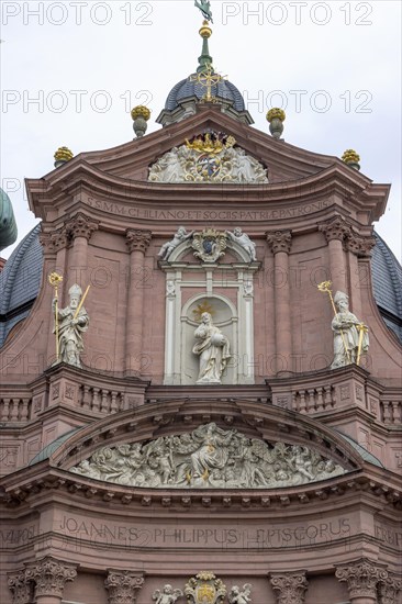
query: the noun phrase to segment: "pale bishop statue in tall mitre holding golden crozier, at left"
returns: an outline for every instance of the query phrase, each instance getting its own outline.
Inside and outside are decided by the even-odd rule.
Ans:
[[[58,321],[59,360],[74,367],[81,367],[80,353],[83,350],[82,333],[88,329],[89,316],[83,306],[77,316],[77,309],[82,297],[82,290],[75,283],[68,291],[70,303],[65,309],[57,309],[56,299],[53,300],[55,321]],[[56,332],[56,327],[53,329]]]

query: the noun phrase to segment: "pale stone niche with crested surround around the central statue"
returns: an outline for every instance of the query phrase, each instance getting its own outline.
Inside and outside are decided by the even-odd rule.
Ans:
[[[165,385],[254,383],[253,280],[260,267],[255,248],[242,228],[212,226],[197,233],[179,227],[161,246]]]

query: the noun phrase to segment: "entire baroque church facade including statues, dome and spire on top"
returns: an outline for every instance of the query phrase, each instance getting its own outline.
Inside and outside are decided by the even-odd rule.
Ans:
[[[135,108],[133,142],[26,181],[42,223],[1,275],[3,602],[398,604],[389,186],[286,143],[280,110],[250,127],[200,34],[159,131]]]

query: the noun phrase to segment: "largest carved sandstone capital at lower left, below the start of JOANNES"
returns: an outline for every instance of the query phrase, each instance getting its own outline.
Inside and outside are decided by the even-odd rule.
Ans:
[[[26,568],[26,575],[35,582],[35,596],[63,597],[66,581],[77,577],[77,567],[46,557],[34,566]]]

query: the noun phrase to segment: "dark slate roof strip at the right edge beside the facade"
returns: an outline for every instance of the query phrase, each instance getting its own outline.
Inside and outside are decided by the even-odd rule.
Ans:
[[[388,245],[375,233],[372,251],[372,289],[387,326],[402,343],[402,267]]]

